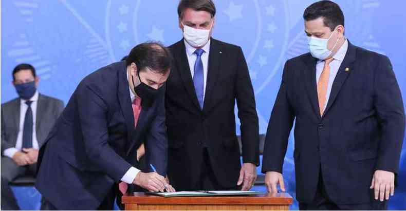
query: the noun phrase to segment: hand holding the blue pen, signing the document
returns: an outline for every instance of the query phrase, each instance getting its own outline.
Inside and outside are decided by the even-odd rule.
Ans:
[[[160,176],[157,172],[139,172],[135,177],[133,184],[154,192],[163,192],[165,187],[169,186],[167,181],[165,181],[165,178]]]

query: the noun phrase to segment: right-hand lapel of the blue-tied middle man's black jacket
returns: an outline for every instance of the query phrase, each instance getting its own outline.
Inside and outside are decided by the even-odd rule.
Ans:
[[[210,41],[210,52],[209,52],[209,64],[207,70],[207,83],[206,83],[206,94],[203,106],[203,111],[207,112],[210,109],[211,96],[213,88],[216,84],[219,74],[220,56],[222,55],[220,43],[217,40],[211,39]]]

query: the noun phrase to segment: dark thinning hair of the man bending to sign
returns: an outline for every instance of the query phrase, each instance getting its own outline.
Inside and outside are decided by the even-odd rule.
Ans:
[[[131,49],[125,59],[126,65],[135,63],[139,71],[145,67],[157,73],[165,73],[171,67],[172,56],[168,48],[159,42],[141,43]]]

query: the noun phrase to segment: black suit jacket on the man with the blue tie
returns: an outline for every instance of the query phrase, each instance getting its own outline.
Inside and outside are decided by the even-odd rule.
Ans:
[[[259,125],[243,51],[211,39],[204,107],[201,110],[184,41],[169,47],[174,65],[165,107],[169,141],[168,175],[177,190],[192,189],[200,176],[202,145],[207,146],[218,183],[235,187],[241,168],[235,134],[235,102],[241,120],[243,161],[259,165]]]

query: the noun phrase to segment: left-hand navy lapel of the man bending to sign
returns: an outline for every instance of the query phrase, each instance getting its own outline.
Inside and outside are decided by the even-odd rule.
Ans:
[[[121,62],[118,70],[118,89],[118,99],[127,126],[127,141],[131,142],[131,132],[134,130],[134,114],[131,106],[130,87],[128,87],[127,69],[124,62]]]

